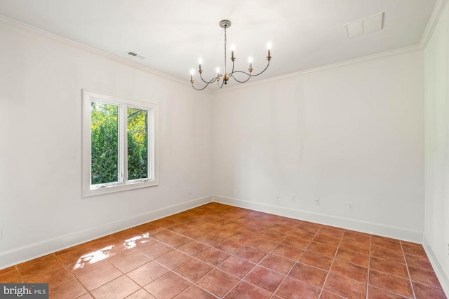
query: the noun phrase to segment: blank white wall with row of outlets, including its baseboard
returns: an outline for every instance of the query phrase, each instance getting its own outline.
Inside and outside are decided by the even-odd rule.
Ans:
[[[422,56],[415,50],[217,94],[215,200],[421,242]]]

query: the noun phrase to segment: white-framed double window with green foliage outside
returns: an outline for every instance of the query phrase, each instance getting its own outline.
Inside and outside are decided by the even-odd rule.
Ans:
[[[156,186],[157,106],[83,90],[83,196]]]

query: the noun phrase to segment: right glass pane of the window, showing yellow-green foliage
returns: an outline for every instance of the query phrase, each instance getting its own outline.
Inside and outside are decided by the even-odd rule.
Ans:
[[[128,108],[128,180],[148,177],[148,111]]]

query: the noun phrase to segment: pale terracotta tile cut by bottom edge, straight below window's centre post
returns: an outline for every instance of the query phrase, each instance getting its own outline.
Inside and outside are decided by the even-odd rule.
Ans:
[[[138,289],[140,289],[138,284],[126,277],[126,275],[123,275],[109,281],[107,284],[103,284],[99,288],[95,288],[91,293],[95,299],[126,298],[126,296],[138,291]]]

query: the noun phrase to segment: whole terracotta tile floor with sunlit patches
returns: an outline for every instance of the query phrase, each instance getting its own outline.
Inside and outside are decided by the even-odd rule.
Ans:
[[[0,270],[50,298],[446,298],[420,244],[210,203]]]

